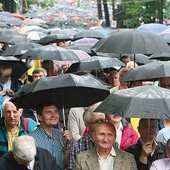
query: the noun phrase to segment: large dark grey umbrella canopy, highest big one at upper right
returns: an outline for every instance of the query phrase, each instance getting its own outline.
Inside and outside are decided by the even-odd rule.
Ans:
[[[153,54],[170,52],[170,48],[158,35],[139,30],[116,32],[104,39],[95,52]]]

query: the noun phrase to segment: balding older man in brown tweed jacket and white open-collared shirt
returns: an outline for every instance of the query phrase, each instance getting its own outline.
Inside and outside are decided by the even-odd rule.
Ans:
[[[74,170],[137,170],[134,156],[116,149],[114,125],[98,123],[93,134],[95,147],[77,155]]]

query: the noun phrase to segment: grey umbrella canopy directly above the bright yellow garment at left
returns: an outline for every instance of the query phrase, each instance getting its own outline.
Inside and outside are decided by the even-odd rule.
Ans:
[[[54,45],[46,45],[30,49],[21,57],[21,59],[80,61],[78,56],[73,51]]]

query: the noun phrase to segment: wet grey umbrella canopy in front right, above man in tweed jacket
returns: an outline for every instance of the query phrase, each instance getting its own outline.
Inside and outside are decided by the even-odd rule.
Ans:
[[[140,86],[111,93],[95,110],[125,118],[170,118],[170,90]]]

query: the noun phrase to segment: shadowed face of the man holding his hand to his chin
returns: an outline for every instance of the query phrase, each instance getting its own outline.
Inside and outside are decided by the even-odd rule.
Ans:
[[[138,127],[140,138],[143,142],[148,142],[156,137],[158,124],[156,120],[146,120]]]

